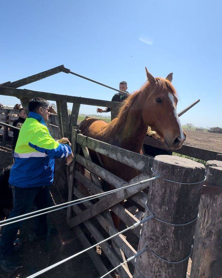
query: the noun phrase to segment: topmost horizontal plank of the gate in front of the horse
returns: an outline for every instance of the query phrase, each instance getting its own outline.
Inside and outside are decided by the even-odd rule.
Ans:
[[[143,169],[153,165],[153,158],[151,157],[137,154],[134,151],[128,151],[96,139],[85,138],[86,136],[78,134],[77,143],[137,170],[143,171]]]

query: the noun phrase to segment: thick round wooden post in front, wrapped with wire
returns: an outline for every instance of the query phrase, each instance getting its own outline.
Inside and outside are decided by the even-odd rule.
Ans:
[[[183,183],[195,183],[204,179],[205,167],[193,160],[171,155],[158,155],[153,170],[162,178]],[[153,176],[156,174],[153,173]],[[158,179],[150,183],[147,206],[163,221],[185,224],[198,215],[198,205],[203,183],[180,184]],[[146,208],[145,216],[150,213]],[[189,256],[193,243],[196,221],[182,226],[162,223],[151,219],[143,224],[138,250],[146,246],[167,261],[181,261]],[[185,278],[188,259],[178,264],[165,262],[149,250],[137,258],[133,278]],[[142,275],[141,275],[141,274]]]

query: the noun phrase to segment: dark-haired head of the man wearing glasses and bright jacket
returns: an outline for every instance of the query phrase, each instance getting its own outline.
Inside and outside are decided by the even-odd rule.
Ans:
[[[48,121],[49,102],[41,97],[35,97],[29,101],[29,112],[35,112],[42,116],[44,121]]]

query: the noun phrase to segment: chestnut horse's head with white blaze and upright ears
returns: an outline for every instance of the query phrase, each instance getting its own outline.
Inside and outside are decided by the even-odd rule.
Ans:
[[[166,79],[154,78],[146,69],[148,83],[144,91],[142,107],[143,121],[155,130],[170,149],[181,148],[186,139],[179,117],[177,115],[177,94],[171,84],[173,74]]]

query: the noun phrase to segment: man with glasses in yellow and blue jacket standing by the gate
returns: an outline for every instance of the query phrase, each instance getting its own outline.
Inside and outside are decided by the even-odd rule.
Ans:
[[[29,111],[29,118],[19,132],[14,152],[15,163],[10,172],[9,185],[13,193],[13,209],[9,218],[29,212],[33,204],[37,209],[51,206],[49,186],[54,179],[54,158],[66,157],[67,164],[71,163],[73,158],[68,138],[55,141],[46,127],[48,101],[39,97],[32,99],[29,102]],[[35,231],[32,240],[46,238],[46,216],[47,214],[43,214],[34,217]],[[23,221],[6,225],[2,233],[0,266],[6,272],[13,272],[19,265],[14,254],[13,242],[22,223]]]

